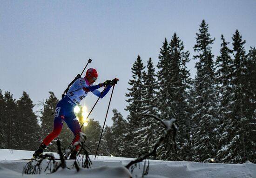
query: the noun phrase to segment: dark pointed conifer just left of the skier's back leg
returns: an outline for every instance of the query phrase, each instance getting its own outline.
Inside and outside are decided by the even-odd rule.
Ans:
[[[17,101],[18,115],[15,120],[15,132],[22,133],[19,135],[18,147],[24,150],[35,150],[37,143],[41,138],[38,137],[40,126],[38,125],[37,116],[33,112],[33,101],[26,92]]]

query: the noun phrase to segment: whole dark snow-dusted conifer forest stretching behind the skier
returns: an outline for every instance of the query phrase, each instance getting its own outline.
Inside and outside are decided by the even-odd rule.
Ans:
[[[176,33],[169,42],[165,39],[155,65],[157,72],[151,58],[144,65],[141,57],[137,56],[126,93],[128,116],[124,119],[113,109],[113,125],[104,129],[100,155],[135,158],[149,152],[163,132],[156,120],[145,116],[154,114],[167,121],[176,119],[177,129],[175,141],[165,140],[157,149],[156,159],[195,162],[214,159],[216,163],[244,163],[249,160],[256,163],[256,48],[250,47],[246,52],[246,42],[236,30],[230,42],[221,35],[220,54],[215,56],[211,50],[215,38],[211,37],[208,29],[208,24],[202,20],[195,34],[195,55],[192,57],[189,51],[184,50],[183,42]],[[191,59],[195,60],[195,79],[191,78],[186,66]],[[40,111],[42,124],[38,125],[32,110],[33,102],[26,92],[16,101],[10,92],[2,95],[0,91],[0,109],[4,113],[0,120],[3,123],[0,127],[0,148],[34,150],[38,147],[41,139],[53,128],[51,113],[58,99],[53,92],[49,93]],[[24,119],[33,121],[25,124]],[[26,134],[17,134],[21,129]],[[101,125],[90,119],[83,129],[93,154]],[[67,148],[73,137],[73,133],[63,125],[56,139],[60,139]],[[30,143],[26,142],[28,138]],[[23,144],[17,144],[17,140],[22,140]],[[52,144],[47,149],[56,151],[54,146]]]

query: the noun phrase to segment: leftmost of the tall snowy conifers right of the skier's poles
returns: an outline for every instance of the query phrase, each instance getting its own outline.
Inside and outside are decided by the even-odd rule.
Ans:
[[[129,97],[126,101],[129,103],[128,106],[126,106],[126,109],[128,114],[128,143],[129,148],[127,150],[127,153],[130,155],[130,157],[136,157],[138,156],[137,153],[139,151],[139,145],[138,140],[135,138],[138,136],[136,131],[141,127],[141,118],[142,118],[142,73],[145,66],[143,66],[143,63],[141,61],[141,57],[138,56],[133,67],[132,67],[132,73],[133,73],[133,79],[130,79],[128,84],[131,86],[131,88],[128,88],[128,93],[126,93],[126,97]]]

